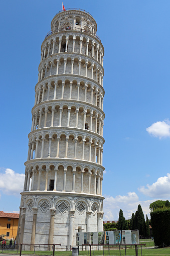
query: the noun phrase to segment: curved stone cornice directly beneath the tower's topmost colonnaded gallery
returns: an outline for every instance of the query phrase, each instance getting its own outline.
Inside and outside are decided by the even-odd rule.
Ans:
[[[52,58],[54,56],[62,56],[62,55],[78,55],[80,57],[89,58],[90,60],[96,62],[101,67],[101,69],[103,70],[103,76],[104,76],[104,67],[101,65],[101,63],[98,60],[90,57],[89,55],[86,55],[86,54],[83,54],[83,53],[79,53],[79,52],[59,52],[59,53],[54,53],[53,55],[49,55],[48,57],[46,57],[45,59],[43,59],[40,62],[38,70],[39,70],[40,66],[43,64],[43,62],[45,62],[46,60],[47,60],[47,62],[49,62],[50,58]]]

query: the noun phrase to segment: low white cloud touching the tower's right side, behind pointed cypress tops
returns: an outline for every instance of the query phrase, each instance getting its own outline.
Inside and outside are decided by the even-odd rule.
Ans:
[[[132,213],[137,211],[137,206],[140,204],[144,215],[149,218],[149,205],[155,200],[139,201],[135,192],[128,192],[125,196],[105,196],[104,200],[104,216],[103,220],[118,220],[119,210],[122,209],[126,219],[131,217]]]

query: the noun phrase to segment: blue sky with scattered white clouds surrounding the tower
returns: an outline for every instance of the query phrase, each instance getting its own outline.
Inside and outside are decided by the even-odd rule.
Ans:
[[[104,55],[104,220],[169,200],[169,1],[64,1],[95,18]],[[23,190],[40,48],[62,2],[1,2],[0,210]]]

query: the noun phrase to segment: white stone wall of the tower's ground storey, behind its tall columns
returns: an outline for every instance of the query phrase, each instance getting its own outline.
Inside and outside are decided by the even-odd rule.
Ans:
[[[29,208],[30,201],[32,202]],[[48,208],[44,211],[43,203],[48,204]],[[71,202],[72,205],[71,205]],[[24,207],[26,207],[26,221],[24,229],[23,243],[31,243],[32,224],[33,224],[33,208],[37,207],[37,223],[36,223],[36,238],[35,243],[48,243],[49,229],[50,229],[50,207],[53,206],[56,209],[54,217],[54,243],[61,243],[62,245],[68,244],[69,228],[70,228],[70,210],[74,210],[74,225],[73,225],[73,245],[76,245],[76,232],[78,228],[82,228],[82,232],[87,231],[87,214],[86,211],[90,210],[90,225],[93,232],[97,231],[97,212],[101,210],[102,200],[94,200],[94,198],[86,198],[82,201],[78,197],[61,197],[61,196],[48,196],[47,193],[43,196],[34,195],[26,196],[24,200]],[[64,203],[67,209],[62,213],[59,210],[61,203]],[[84,210],[79,212],[77,207],[83,204]],[[91,208],[95,204],[96,211],[92,211]],[[101,231],[101,230],[100,230]]]

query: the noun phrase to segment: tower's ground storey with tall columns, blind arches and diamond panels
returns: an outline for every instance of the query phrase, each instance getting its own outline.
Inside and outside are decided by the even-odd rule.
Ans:
[[[20,239],[23,243],[35,238],[35,243],[76,245],[76,232],[103,230],[102,196],[50,191],[21,194],[21,207],[25,209],[24,230],[21,220],[20,232],[24,233]]]

